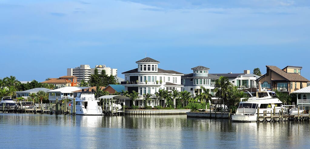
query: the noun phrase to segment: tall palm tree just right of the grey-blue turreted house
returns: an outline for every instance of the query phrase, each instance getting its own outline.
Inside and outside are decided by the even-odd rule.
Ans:
[[[229,82],[229,79],[227,77],[220,76],[219,79],[216,80],[214,92],[216,92],[217,97],[220,97],[223,99],[223,104],[224,104],[224,101],[228,103],[228,94],[231,93],[232,87],[233,85],[232,83]],[[229,104],[228,104],[228,107],[230,107]]]

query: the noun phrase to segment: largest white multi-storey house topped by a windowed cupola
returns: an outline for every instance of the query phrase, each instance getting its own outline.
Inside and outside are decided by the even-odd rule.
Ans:
[[[152,94],[153,99],[147,104],[149,106],[157,106],[159,102],[156,100],[155,93],[159,89],[181,91],[181,76],[184,74],[174,70],[163,70],[158,68],[160,62],[150,57],[146,57],[136,62],[137,68],[123,72],[125,81],[121,84],[125,87],[125,91],[139,93],[139,99],[135,100],[135,105],[144,106],[143,94]]]

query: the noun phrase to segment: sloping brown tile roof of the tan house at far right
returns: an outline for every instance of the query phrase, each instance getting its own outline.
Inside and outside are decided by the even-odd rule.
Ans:
[[[273,72],[281,75],[283,78],[289,80],[289,81],[299,81],[299,82],[309,82],[308,79],[304,78],[303,76],[297,74],[297,73],[286,73],[285,71],[281,70],[277,66],[267,66],[270,70]]]

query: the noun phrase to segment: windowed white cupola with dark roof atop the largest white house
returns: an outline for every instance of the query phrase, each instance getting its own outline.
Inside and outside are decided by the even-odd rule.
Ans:
[[[138,64],[138,72],[157,72],[159,61],[150,57],[145,57],[136,62]]]

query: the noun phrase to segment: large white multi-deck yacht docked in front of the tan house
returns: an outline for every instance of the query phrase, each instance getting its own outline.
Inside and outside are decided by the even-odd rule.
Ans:
[[[247,101],[241,101],[236,114],[232,115],[232,121],[257,121],[257,115],[263,116],[263,112],[267,111],[267,116],[271,115],[271,111],[275,109],[275,113],[287,113],[287,108],[282,106],[282,102],[277,98],[276,93],[262,89],[259,84],[259,91],[256,97],[251,97]],[[258,113],[259,107],[259,113]]]

